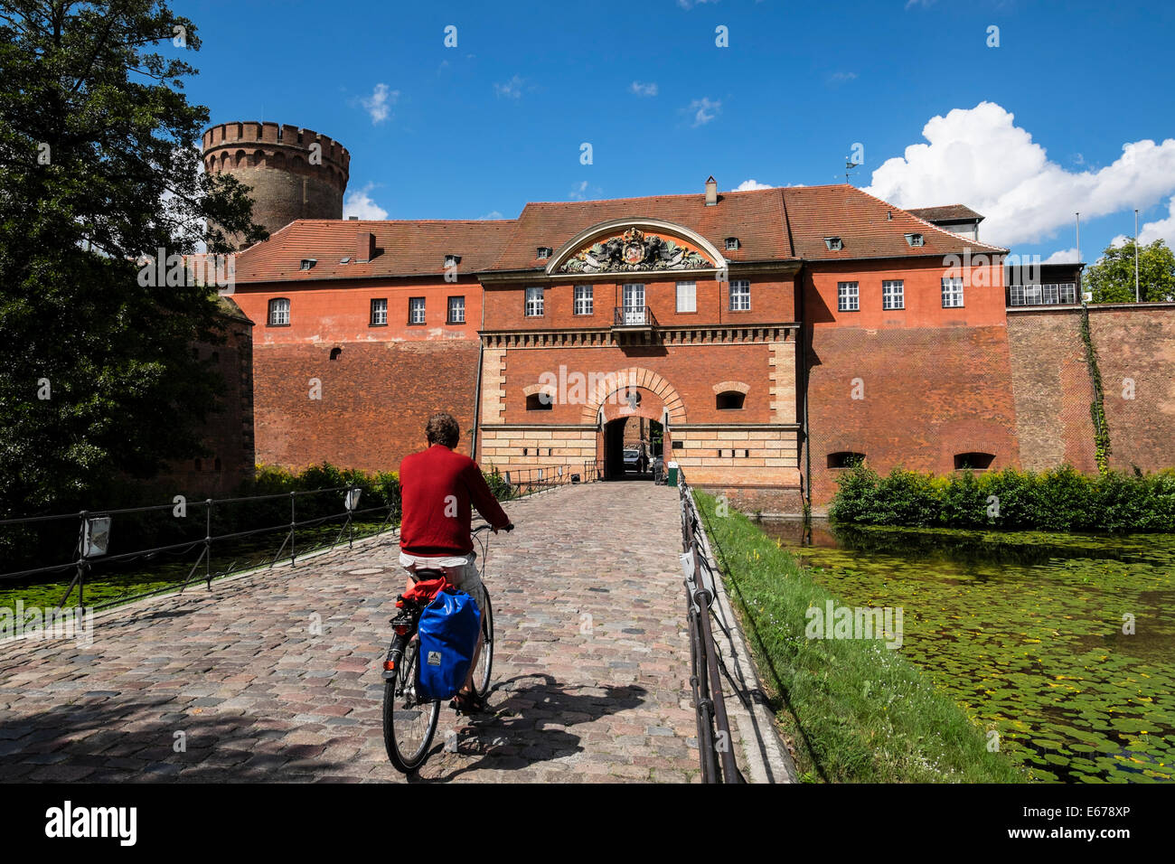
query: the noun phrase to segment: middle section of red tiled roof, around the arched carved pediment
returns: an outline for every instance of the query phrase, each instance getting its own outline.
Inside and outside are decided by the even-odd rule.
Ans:
[[[585,228],[624,217],[662,219],[680,225],[709,240],[730,261],[794,257],[784,230],[779,189],[757,189],[723,193],[713,207],[706,207],[704,194],[529,203],[492,269],[543,269],[546,262],[535,256],[538,247],[558,250]],[[726,237],[732,236],[739,239],[740,248],[726,253]]]

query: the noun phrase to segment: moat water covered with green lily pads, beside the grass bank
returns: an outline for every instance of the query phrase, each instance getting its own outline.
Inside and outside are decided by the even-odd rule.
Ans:
[[[1175,778],[1175,535],[760,524],[1034,779]]]

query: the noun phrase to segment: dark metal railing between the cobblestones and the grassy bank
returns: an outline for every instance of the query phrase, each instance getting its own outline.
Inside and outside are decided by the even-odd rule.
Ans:
[[[710,621],[717,576],[710,568],[705,545],[699,541],[704,531],[701,515],[680,468],[677,474],[677,491],[682,508],[682,570],[689,601],[690,686],[698,715],[701,782],[743,783],[743,775],[734,761],[734,742],[726,716],[726,699],[723,697],[720,659]]]

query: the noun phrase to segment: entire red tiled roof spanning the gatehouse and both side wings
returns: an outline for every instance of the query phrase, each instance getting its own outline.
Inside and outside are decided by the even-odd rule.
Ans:
[[[961,205],[933,210],[966,210]],[[926,209],[918,213],[927,213]],[[975,214],[976,216],[979,214]],[[845,183],[726,192],[713,207],[705,195],[657,195],[606,201],[529,203],[517,220],[297,220],[267,242],[246,249],[236,260],[237,282],[317,281],[374,276],[439,276],[444,256],[461,255],[459,273],[542,270],[539,247],[558,250],[576,234],[615,219],[658,219],[689,228],[709,240],[731,262],[851,261],[1005,253],[996,246],[967,240],[925,217],[886,203]],[[355,263],[356,236],[371,232],[378,249],[369,263]],[[921,234],[911,247],[906,234]],[[726,237],[740,248],[725,250]],[[825,237],[838,236],[840,250]],[[340,263],[351,257],[349,263]],[[301,270],[303,259],[315,266]]]

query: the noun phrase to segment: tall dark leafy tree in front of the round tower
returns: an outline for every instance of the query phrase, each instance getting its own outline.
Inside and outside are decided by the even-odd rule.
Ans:
[[[179,59],[199,47],[159,0],[0,0],[0,516],[201,455],[216,290],[140,263],[266,234],[247,187],[201,170]]]

